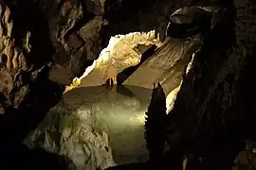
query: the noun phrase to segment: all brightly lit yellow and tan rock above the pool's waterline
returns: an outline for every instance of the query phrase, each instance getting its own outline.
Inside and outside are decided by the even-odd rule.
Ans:
[[[66,90],[104,84],[107,78],[116,77],[124,69],[138,64],[141,54],[135,49],[137,44],[153,43],[156,43],[159,49],[152,57],[146,59],[123,84],[153,89],[153,84],[160,82],[165,93],[169,94],[167,108],[171,110],[185,66],[191,61],[192,53],[200,46],[198,39],[170,40],[162,44],[155,39],[154,31],[147,34],[131,33],[112,37],[108,46],[102,50],[99,59],[95,60],[80,78],[75,78],[73,84]]]

